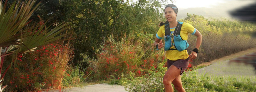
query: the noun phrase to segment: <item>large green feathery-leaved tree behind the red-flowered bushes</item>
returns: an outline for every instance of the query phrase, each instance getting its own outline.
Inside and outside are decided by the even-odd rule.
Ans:
[[[104,45],[110,35],[121,41],[125,34],[155,33],[162,20],[160,8],[165,1],[142,0],[132,4],[124,0],[63,1],[62,5],[68,10],[66,22],[76,38],[72,43],[77,62],[82,60],[79,56],[82,53],[96,57],[100,45]]]

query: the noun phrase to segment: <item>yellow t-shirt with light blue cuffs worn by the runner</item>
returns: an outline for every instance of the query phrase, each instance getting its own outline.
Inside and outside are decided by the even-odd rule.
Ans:
[[[175,28],[170,28],[172,35],[173,35]],[[191,24],[183,23],[181,26],[181,30],[180,30],[180,36],[183,40],[187,40],[188,33],[194,35],[195,32],[196,32],[196,29]],[[156,36],[158,39],[162,39],[165,36],[165,25],[163,25],[159,28]],[[172,40],[172,43],[173,43],[173,40]],[[175,49],[174,44],[172,45],[171,49]],[[166,51],[166,58],[169,60],[187,59],[188,53],[187,53],[187,50],[183,50],[183,51],[168,50],[168,51]]]

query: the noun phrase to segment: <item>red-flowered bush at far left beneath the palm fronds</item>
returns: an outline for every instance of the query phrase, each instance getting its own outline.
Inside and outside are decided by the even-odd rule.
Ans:
[[[6,90],[60,89],[68,62],[72,59],[72,49],[57,43],[49,44],[17,59],[14,68],[6,74],[9,76],[5,77]]]

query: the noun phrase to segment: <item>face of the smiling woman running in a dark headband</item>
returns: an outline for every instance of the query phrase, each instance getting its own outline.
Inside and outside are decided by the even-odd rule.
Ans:
[[[165,8],[165,18],[167,19],[168,22],[176,21],[176,16],[177,14],[171,7]]]

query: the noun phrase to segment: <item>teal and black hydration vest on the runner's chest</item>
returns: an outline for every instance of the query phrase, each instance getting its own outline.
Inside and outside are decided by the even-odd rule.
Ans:
[[[185,50],[189,46],[186,40],[183,40],[180,36],[180,30],[183,22],[178,22],[173,35],[171,34],[170,25],[165,24],[165,51],[167,50]],[[173,43],[172,43],[173,40]],[[175,49],[170,49],[172,46],[175,46]]]

